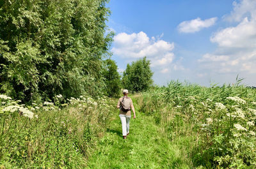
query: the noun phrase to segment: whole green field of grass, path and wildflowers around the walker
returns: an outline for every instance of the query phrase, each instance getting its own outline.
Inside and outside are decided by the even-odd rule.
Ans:
[[[116,99],[1,95],[1,168],[255,168],[255,89],[170,82],[132,99],[124,141]]]

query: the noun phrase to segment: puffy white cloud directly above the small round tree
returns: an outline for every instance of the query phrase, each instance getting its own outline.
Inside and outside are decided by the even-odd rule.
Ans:
[[[172,52],[174,43],[160,40],[161,36],[148,38],[142,31],[132,34],[119,33],[114,37],[114,47],[111,52],[124,59],[139,59],[147,56],[151,66],[170,64],[174,59]]]

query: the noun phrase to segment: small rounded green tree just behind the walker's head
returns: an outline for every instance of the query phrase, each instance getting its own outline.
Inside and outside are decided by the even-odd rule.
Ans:
[[[150,61],[146,57],[139,61],[127,64],[122,78],[125,89],[134,92],[146,91],[153,84],[153,73],[150,70]]]

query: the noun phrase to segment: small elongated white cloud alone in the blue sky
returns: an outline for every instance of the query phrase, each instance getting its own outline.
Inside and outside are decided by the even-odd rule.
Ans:
[[[201,20],[201,18],[186,20],[179,24],[178,29],[180,33],[195,33],[205,27],[210,27],[214,25],[216,20],[217,20],[216,17],[205,19],[205,20]]]

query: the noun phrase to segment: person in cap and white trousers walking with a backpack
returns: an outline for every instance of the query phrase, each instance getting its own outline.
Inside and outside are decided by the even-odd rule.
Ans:
[[[132,99],[128,97],[128,90],[124,89],[123,94],[124,97],[118,99],[117,108],[120,108],[120,120],[122,123],[122,133],[123,138],[126,139],[126,136],[129,135],[129,122],[131,119],[131,109],[133,112],[133,119],[136,118],[134,106],[132,103]]]

